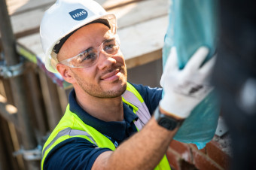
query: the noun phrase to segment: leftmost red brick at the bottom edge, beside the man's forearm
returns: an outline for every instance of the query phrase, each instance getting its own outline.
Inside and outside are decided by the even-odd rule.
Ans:
[[[175,170],[181,170],[181,167],[180,167],[181,155],[176,153],[175,150],[172,150],[172,148],[168,147],[168,150],[166,152],[166,157],[172,169],[175,168]]]

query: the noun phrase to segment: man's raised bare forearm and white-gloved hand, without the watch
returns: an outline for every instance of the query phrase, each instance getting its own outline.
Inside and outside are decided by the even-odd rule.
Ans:
[[[165,92],[159,104],[162,114],[184,120],[212,90],[207,81],[215,60],[201,66],[208,52],[206,47],[200,47],[185,68],[179,70],[177,53],[172,48],[160,81]],[[178,126],[167,130],[153,118],[117,150],[100,154],[93,169],[154,169],[177,131]]]

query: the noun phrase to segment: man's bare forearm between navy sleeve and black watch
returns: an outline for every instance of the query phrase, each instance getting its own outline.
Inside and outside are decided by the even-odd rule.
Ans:
[[[177,130],[167,130],[153,118],[117,150],[100,154],[92,169],[154,169]]]

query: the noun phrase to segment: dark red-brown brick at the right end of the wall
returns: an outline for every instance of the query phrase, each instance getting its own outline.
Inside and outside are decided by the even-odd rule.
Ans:
[[[223,146],[216,141],[211,141],[206,144],[207,155],[213,159],[218,165],[221,165],[224,169],[229,168],[230,156],[224,152]]]

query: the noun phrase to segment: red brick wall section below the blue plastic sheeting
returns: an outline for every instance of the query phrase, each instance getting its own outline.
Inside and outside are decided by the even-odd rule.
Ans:
[[[166,156],[172,170],[228,169],[230,159],[230,139],[215,136],[202,150],[195,144],[184,144],[173,140]]]

